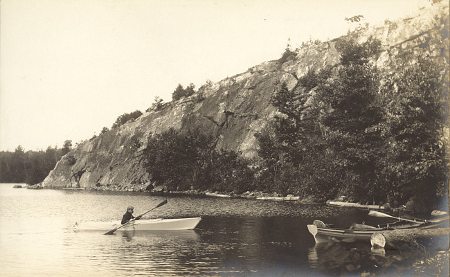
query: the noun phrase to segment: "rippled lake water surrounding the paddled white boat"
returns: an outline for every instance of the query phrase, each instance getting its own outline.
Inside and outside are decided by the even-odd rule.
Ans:
[[[315,244],[306,226],[313,220],[335,226],[386,222],[355,208],[13,185],[0,184],[0,276],[448,276],[449,272],[447,237],[420,244],[424,249],[386,253],[372,253],[367,244]],[[73,231],[75,222],[120,220],[129,205],[135,207],[134,215],[140,215],[164,199],[168,204],[145,217],[202,217],[197,228],[114,235]],[[440,259],[443,265],[426,266],[427,257]]]

